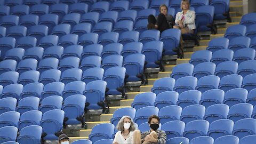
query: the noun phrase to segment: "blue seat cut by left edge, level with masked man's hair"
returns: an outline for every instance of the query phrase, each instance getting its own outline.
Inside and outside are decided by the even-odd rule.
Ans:
[[[5,126],[17,127],[19,119],[20,113],[18,113],[17,111],[7,111],[0,115],[0,128]]]

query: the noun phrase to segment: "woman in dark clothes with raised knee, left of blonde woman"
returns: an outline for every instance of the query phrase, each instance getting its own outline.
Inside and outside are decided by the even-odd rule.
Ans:
[[[164,30],[172,28],[173,26],[173,15],[168,15],[168,7],[163,4],[159,6],[158,17],[154,15],[148,15],[148,29],[158,29],[160,33]]]

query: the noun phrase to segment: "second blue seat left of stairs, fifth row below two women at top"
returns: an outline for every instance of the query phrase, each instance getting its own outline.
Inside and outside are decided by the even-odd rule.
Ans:
[[[86,84],[81,81],[70,82],[67,85],[65,85],[64,91],[61,94],[63,100],[65,100],[70,95],[83,94],[83,91],[85,90],[85,85]]]

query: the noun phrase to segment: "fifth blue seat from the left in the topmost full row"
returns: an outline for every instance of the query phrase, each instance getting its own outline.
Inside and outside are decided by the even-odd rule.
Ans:
[[[68,6],[68,13],[85,14],[88,12],[89,6],[86,3],[74,3]]]

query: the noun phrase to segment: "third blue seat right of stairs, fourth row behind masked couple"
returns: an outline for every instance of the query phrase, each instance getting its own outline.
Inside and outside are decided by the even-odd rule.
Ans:
[[[235,61],[221,62],[216,67],[214,75],[222,78],[227,75],[236,74],[237,68],[238,68],[238,63]]]

